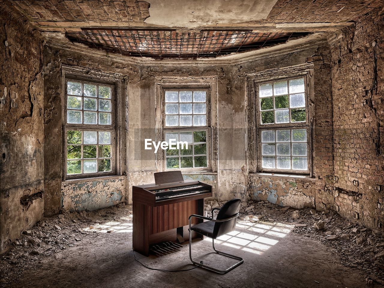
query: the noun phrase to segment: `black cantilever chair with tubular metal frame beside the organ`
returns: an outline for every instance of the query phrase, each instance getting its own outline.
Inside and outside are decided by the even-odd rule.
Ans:
[[[215,208],[212,209],[212,218],[209,217],[204,217],[201,215],[190,215],[189,216],[189,259],[191,260],[192,263],[195,265],[201,266],[205,269],[214,271],[219,274],[225,274],[232,269],[236,268],[240,264],[244,262],[244,259],[241,257],[237,257],[235,255],[231,255],[225,252],[221,252],[216,250],[215,248],[215,239],[217,237],[220,237],[222,235],[225,235],[229,232],[232,232],[236,228],[236,220],[239,215],[239,209],[240,209],[240,199],[232,199],[229,200],[227,203],[221,207],[221,209]],[[219,210],[216,219],[214,219],[214,211]],[[193,217],[200,218],[200,219],[205,219],[208,220],[206,222],[202,222],[199,224],[196,224],[194,226],[191,226],[191,219]],[[197,263],[192,259],[192,239],[191,239],[191,233],[192,231],[195,231],[201,235],[207,236],[209,238],[212,238],[212,247],[214,248],[215,252],[221,255],[224,255],[226,257],[230,257],[236,260],[239,260],[239,262],[235,263],[234,265],[230,266],[226,270],[218,270],[216,268],[204,265],[203,262]]]

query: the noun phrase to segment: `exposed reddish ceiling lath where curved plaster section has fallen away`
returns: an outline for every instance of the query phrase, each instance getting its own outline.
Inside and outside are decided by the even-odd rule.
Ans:
[[[177,31],[83,28],[66,33],[72,42],[91,48],[136,57],[156,59],[195,59],[217,57],[240,51],[260,49],[285,43],[291,38],[307,36],[308,32],[258,33],[242,31]]]

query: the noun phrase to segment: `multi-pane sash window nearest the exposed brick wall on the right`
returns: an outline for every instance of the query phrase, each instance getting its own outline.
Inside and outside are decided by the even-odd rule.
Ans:
[[[257,83],[258,170],[310,172],[306,76]]]

